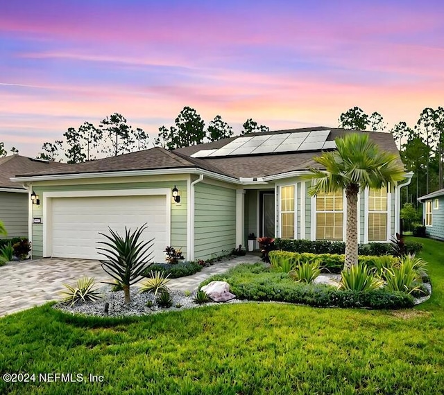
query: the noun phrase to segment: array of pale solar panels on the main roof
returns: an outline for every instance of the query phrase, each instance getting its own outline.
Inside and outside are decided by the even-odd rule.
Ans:
[[[200,150],[191,156],[195,158],[226,157],[336,148],[334,141],[326,141],[329,134],[330,130],[313,130],[310,132],[242,136],[217,150]]]

